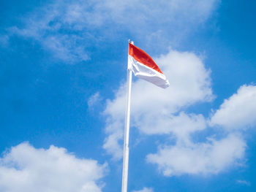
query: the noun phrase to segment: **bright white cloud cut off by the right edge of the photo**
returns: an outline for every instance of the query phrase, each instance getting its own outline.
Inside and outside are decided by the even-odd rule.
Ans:
[[[225,99],[211,117],[210,125],[223,126],[229,131],[256,126],[256,86],[243,85]]]

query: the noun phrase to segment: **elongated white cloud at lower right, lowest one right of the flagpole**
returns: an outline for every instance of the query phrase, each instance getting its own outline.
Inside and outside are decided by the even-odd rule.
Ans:
[[[225,139],[208,142],[160,147],[156,154],[147,155],[147,161],[157,164],[165,176],[181,174],[217,174],[239,164],[246,144],[234,134]]]

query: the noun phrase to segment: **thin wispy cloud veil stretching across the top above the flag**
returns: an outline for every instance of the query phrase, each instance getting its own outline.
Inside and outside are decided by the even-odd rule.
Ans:
[[[166,37],[170,33],[181,35],[189,26],[206,20],[218,1],[56,0],[30,12],[24,16],[23,26],[13,26],[9,31],[37,40],[56,58],[72,64],[90,58],[88,47],[104,39],[116,41],[120,30],[157,40],[159,45],[169,42]],[[159,31],[161,35],[155,36]]]

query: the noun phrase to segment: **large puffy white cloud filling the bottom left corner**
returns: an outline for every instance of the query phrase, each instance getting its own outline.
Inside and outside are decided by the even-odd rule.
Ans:
[[[76,158],[64,148],[36,149],[22,143],[0,158],[0,191],[100,192],[106,166]]]

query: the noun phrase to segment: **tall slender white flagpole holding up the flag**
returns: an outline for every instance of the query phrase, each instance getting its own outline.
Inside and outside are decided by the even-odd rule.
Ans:
[[[131,42],[133,45],[133,42]],[[129,47],[128,47],[129,51]],[[131,109],[131,90],[132,90],[132,71],[127,65],[127,110],[124,125],[124,158],[123,158],[123,177],[121,192],[127,192],[128,182],[128,163],[129,163],[129,116]]]

